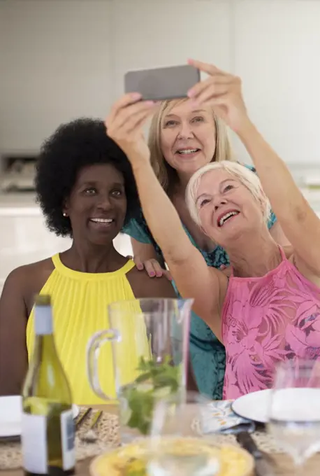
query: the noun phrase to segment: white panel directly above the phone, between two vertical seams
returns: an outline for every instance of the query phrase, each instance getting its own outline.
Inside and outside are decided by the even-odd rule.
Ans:
[[[189,57],[231,69],[228,0],[120,0],[112,5],[116,96],[130,69],[185,64]]]

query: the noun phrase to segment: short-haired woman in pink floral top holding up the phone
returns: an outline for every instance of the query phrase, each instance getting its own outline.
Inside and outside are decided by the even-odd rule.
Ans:
[[[230,277],[208,267],[191,244],[150,165],[141,125],[154,105],[126,96],[107,127],[131,161],[143,213],[177,288],[195,298],[194,310],[226,346],[224,398],[237,398],[270,387],[279,360],[320,357],[320,220],[249,119],[240,80],[209,64],[191,64],[210,75],[189,91],[192,102],[212,104],[238,134],[261,179],[221,162],[189,182],[189,212],[226,249]],[[292,244],[285,250],[268,232],[267,197]]]

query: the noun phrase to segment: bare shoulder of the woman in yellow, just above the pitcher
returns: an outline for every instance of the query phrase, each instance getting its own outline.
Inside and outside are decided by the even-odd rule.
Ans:
[[[135,266],[126,274],[136,297],[176,297],[172,283],[166,278],[150,278],[145,269]]]

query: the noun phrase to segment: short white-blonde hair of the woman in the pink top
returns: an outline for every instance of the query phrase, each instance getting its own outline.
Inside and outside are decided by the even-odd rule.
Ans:
[[[208,172],[219,169],[226,170],[230,175],[236,177],[236,179],[238,179],[240,183],[242,183],[242,185],[252,193],[254,200],[261,204],[263,219],[268,222],[271,213],[271,206],[266,194],[263,192],[259,177],[252,172],[252,170],[245,167],[245,165],[239,164],[238,162],[222,160],[221,162],[214,162],[201,167],[201,169],[195,172],[189,180],[186,190],[186,202],[191,218],[196,222],[196,224],[201,225],[198,209],[196,207],[196,195],[198,193],[201,179],[205,174],[208,174]]]

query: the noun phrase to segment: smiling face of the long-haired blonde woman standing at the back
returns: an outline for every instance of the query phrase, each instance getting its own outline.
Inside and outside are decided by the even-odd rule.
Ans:
[[[196,109],[189,101],[175,102],[161,118],[160,145],[173,169],[194,174],[214,157],[216,128],[212,109]]]

